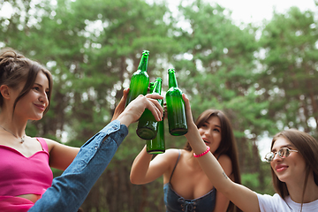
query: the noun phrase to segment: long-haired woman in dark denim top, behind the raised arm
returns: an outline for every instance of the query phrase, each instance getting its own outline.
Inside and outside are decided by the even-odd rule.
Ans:
[[[205,110],[195,122],[207,151],[216,156],[231,180],[240,183],[237,144],[229,119],[221,110]],[[229,199],[216,189],[197,162],[193,149],[167,149],[153,160],[143,148],[133,162],[131,182],[147,184],[163,176],[166,210],[174,211],[234,211]]]

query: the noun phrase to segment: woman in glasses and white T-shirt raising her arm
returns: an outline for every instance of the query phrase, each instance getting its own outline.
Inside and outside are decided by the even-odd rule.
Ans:
[[[318,208],[318,142],[307,133],[290,129],[277,133],[266,155],[270,163],[276,194],[259,194],[228,178],[214,155],[206,151],[200,133],[193,123],[190,102],[186,102],[189,141],[209,180],[216,190],[223,193],[243,211],[302,211]]]

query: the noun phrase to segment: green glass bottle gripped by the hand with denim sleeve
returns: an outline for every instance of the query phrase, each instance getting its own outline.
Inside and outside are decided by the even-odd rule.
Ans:
[[[161,95],[162,83],[163,79],[156,78],[155,84],[153,86],[150,84],[150,94],[156,93]],[[161,103],[163,100],[158,100],[158,102]],[[153,140],[157,134],[157,126],[158,122],[155,120],[154,115],[150,110],[146,109],[139,119],[136,133],[143,140]]]

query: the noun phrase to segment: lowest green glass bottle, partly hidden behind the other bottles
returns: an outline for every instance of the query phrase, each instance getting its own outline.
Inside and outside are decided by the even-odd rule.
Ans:
[[[163,106],[163,101],[161,105]],[[155,139],[147,140],[147,152],[148,154],[162,154],[165,152],[163,120],[158,122]]]

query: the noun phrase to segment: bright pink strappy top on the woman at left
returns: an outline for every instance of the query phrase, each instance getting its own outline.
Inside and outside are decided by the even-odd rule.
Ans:
[[[49,168],[49,148],[44,139],[36,139],[43,150],[29,157],[0,145],[0,196],[42,194],[51,186],[53,173]]]

